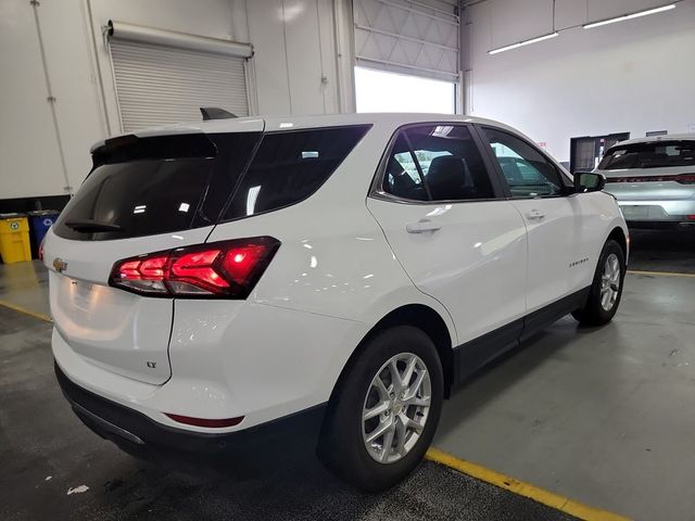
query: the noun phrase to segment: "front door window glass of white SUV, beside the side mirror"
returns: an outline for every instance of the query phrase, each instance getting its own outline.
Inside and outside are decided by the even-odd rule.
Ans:
[[[485,128],[484,135],[513,198],[563,195],[565,189],[559,171],[538,150],[502,130]]]

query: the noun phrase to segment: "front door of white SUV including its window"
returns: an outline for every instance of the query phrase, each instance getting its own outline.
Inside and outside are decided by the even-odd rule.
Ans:
[[[581,289],[589,255],[581,237],[584,219],[559,168],[533,144],[506,130],[480,127],[511,204],[528,232],[528,313]]]

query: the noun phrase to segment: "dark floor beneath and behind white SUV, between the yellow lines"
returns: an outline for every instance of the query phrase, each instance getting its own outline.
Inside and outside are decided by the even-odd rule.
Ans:
[[[71,411],[55,383],[50,330],[0,306],[2,521],[574,519],[430,461],[388,493],[368,495],[295,445],[279,456],[258,454],[253,468],[222,459],[165,467],[136,460]]]

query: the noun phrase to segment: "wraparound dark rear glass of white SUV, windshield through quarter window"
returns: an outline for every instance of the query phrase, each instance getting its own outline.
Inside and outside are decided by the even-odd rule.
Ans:
[[[93,152],[94,167],[54,231],[127,239],[289,206],[314,193],[368,129],[270,132],[262,140],[261,132],[114,138]]]

